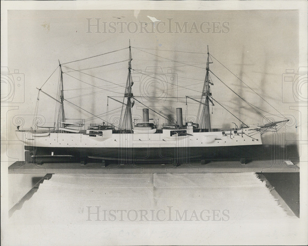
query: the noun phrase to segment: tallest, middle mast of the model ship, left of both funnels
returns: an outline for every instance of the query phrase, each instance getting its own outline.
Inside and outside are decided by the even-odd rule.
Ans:
[[[127,99],[127,103],[125,106],[124,116],[122,119],[122,113],[124,106],[122,107],[121,111],[121,123],[120,123],[120,129],[121,130],[129,130],[132,131],[132,107],[134,106],[134,101],[132,101],[133,93],[132,93],[132,52],[131,52],[131,41],[129,40],[129,59],[128,59],[128,76],[126,80],[126,87],[125,87],[125,93],[124,93],[124,100]]]

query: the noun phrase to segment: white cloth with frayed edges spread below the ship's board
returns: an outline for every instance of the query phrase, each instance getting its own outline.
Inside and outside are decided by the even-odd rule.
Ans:
[[[261,245],[291,220],[254,173],[53,175],[10,218],[8,244]]]

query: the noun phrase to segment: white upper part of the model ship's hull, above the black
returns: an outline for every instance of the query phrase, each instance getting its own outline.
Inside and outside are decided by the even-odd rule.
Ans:
[[[20,141],[26,146],[34,147],[94,147],[94,148],[144,148],[144,147],[224,147],[261,145],[261,134],[250,137],[250,128],[237,131],[193,132],[185,129],[187,134],[175,136],[174,130],[164,129],[163,133],[112,133],[103,130],[102,135],[84,135],[82,133],[50,133],[48,136],[35,137],[33,132],[16,131]],[[90,130],[87,130],[89,134]],[[92,130],[93,131],[93,130]],[[183,131],[183,130],[176,130]]]

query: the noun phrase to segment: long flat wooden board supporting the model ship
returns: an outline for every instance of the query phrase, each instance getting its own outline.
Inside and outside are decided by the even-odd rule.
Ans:
[[[174,167],[173,164],[109,164],[102,163],[43,163],[37,165],[17,161],[10,165],[9,174],[95,174],[95,173],[233,173],[233,172],[299,172],[297,165],[284,160],[257,160],[247,164],[239,161],[195,162]]]

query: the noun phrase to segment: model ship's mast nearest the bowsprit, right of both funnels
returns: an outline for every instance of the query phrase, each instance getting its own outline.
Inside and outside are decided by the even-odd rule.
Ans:
[[[211,121],[210,121],[210,111],[209,111],[209,102],[214,106],[214,103],[210,99],[210,96],[212,96],[211,90],[210,90],[210,84],[213,85],[213,83],[210,81],[209,77],[209,64],[213,62],[209,62],[209,46],[208,46],[208,59],[206,62],[206,75],[201,95],[201,103],[199,106],[199,112],[198,112],[198,118],[200,115],[199,120],[199,128],[200,129],[208,129],[208,131],[211,131]],[[202,112],[200,111],[202,108]]]

